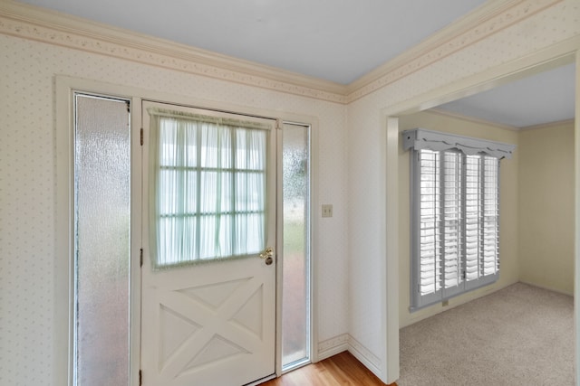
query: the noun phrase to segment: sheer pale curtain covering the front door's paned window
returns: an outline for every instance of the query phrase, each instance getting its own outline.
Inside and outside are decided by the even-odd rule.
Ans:
[[[153,267],[265,249],[265,124],[150,108]]]

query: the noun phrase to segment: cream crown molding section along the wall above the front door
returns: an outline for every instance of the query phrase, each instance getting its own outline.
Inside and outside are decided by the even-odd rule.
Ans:
[[[346,103],[346,86],[338,83],[12,0],[0,0],[0,33],[218,80]]]

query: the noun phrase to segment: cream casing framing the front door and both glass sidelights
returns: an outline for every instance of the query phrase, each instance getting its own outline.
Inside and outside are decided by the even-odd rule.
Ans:
[[[163,103],[191,106],[194,108],[207,108],[232,112],[242,115],[253,115],[263,118],[274,118],[279,121],[300,122],[311,127],[311,208],[318,206],[318,118],[307,115],[277,111],[266,108],[253,108],[225,102],[209,101],[196,97],[184,97],[139,89],[130,86],[121,86],[98,80],[86,80],[70,76],[57,75],[54,77],[55,84],[55,148],[56,148],[56,235],[55,235],[55,261],[54,261],[54,324],[53,324],[53,381],[54,384],[72,385],[73,382],[73,166],[74,166],[74,121],[73,121],[73,92],[82,91],[96,95],[107,95],[115,98],[128,99],[131,102],[131,171],[142,170],[140,127],[141,123],[141,100],[154,100]],[[279,136],[281,137],[281,136]],[[276,164],[280,162],[281,154],[276,154]],[[135,169],[139,166],[140,169]],[[281,175],[276,175],[276,185],[280,184]],[[131,173],[131,225],[142,224],[141,218],[141,175]],[[281,191],[276,193],[276,205],[281,205]],[[317,230],[318,221],[310,211],[311,257],[317,256]],[[140,248],[142,246],[141,229],[131,226],[131,386],[139,385],[140,371],[140,315],[141,315],[141,271],[140,271]],[[278,236],[276,235],[276,238]],[[311,324],[310,324],[310,353],[311,362],[317,362],[317,289],[316,289],[316,259],[311,258]],[[281,283],[282,264],[277,264],[276,286]],[[275,373],[281,375],[281,291],[276,290],[276,346],[275,346]]]

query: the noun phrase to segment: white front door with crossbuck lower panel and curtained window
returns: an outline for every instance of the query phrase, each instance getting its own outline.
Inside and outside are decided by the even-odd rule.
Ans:
[[[150,102],[142,111],[143,164],[150,165],[143,173],[143,239],[153,240],[143,246],[142,384],[237,386],[270,376],[276,269],[275,252],[272,259],[264,252],[275,251],[274,122],[253,127],[249,118]],[[165,125],[154,114],[209,124],[185,132],[181,153],[173,152],[169,125],[169,139],[162,134],[151,153],[151,124]],[[244,121],[240,129],[237,119]],[[212,137],[222,123],[226,134]],[[253,141],[261,145],[248,145]],[[161,172],[153,177],[150,158],[159,154]],[[169,166],[168,154],[175,155]],[[153,193],[152,178],[172,188]],[[156,217],[149,202],[160,194],[169,197],[158,202]]]

